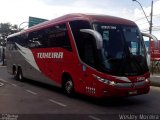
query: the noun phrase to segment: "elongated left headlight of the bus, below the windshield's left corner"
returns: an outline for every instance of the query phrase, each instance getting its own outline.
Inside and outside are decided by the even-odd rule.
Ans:
[[[116,85],[116,82],[101,78],[101,77],[99,77],[97,75],[93,74],[93,77],[96,78],[98,81],[100,81],[102,83],[105,83],[107,85],[111,85],[111,86],[115,86]]]

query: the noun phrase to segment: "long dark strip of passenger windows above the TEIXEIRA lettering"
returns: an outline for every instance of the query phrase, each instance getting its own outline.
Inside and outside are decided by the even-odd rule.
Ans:
[[[29,48],[61,47],[69,51],[72,50],[65,24],[14,36],[9,38],[8,42],[11,42],[12,44],[16,42],[21,46]]]

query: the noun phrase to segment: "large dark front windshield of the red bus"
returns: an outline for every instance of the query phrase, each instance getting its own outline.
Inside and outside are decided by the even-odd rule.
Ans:
[[[103,38],[100,68],[112,75],[140,75],[148,71],[143,38],[136,26],[93,24]]]

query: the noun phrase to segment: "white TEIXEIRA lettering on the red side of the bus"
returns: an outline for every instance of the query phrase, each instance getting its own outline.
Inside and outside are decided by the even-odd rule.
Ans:
[[[54,59],[62,59],[63,52],[40,52],[37,53],[37,58],[54,58]]]

